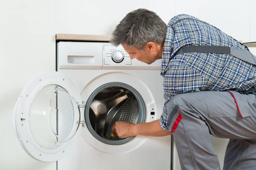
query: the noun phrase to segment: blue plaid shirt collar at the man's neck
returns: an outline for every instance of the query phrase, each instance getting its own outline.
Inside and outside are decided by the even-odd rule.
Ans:
[[[174,31],[172,27],[168,27],[166,31],[166,37],[163,43],[163,55],[162,55],[162,65],[161,65],[161,75],[163,76],[167,64],[171,57],[171,46],[174,41]]]

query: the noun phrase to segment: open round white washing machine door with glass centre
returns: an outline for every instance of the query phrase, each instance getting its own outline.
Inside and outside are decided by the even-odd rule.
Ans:
[[[13,126],[26,153],[45,162],[63,158],[73,148],[83,110],[71,80],[50,71],[32,79],[21,91]]]

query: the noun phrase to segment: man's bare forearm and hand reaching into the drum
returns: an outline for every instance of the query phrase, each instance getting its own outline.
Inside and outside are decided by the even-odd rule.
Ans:
[[[159,125],[159,119],[148,123],[132,124],[130,122],[116,122],[112,127],[112,132],[119,138],[131,136],[167,136],[171,132],[163,130]]]

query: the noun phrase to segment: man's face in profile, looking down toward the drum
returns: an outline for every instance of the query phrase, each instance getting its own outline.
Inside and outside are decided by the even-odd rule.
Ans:
[[[141,51],[136,48],[131,48],[125,44],[122,44],[125,51],[129,54],[131,59],[136,58],[141,62],[145,62],[147,64],[152,64],[156,59],[156,53],[154,50],[148,49],[147,45],[144,48],[144,51]]]

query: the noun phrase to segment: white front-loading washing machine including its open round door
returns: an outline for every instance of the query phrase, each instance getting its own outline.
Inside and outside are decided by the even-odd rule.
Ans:
[[[111,136],[116,121],[160,119],[161,60],[130,59],[108,42],[57,43],[56,71],[23,88],[13,125],[21,146],[58,170],[170,170],[171,136]]]

